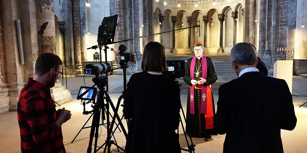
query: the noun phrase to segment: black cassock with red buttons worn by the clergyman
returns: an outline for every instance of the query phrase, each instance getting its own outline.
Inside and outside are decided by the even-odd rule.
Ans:
[[[210,84],[213,84],[217,80],[217,75],[215,71],[215,66],[211,58],[206,57],[207,60],[207,78],[204,78],[207,80],[206,83],[204,83],[205,86],[208,86]],[[202,64],[201,64],[202,59],[196,58],[195,62],[195,68],[194,72],[196,73],[196,69],[202,70]],[[190,87],[192,86],[191,84],[191,76],[190,76],[190,66],[191,66],[192,58],[189,58],[186,65],[185,65],[185,77],[184,81],[187,83]],[[197,67],[197,68],[196,68]],[[194,80],[200,80],[199,78],[202,77],[202,72],[196,77],[196,74],[194,73]],[[197,79],[196,79],[197,78]],[[188,99],[187,99],[187,113],[186,113],[186,133],[195,136],[195,137],[204,137],[208,135],[216,135],[215,132],[213,132],[213,129],[205,129],[206,128],[206,119],[204,114],[199,114],[200,112],[200,103],[201,103],[201,89],[194,89],[194,110],[195,114],[190,114],[190,89],[188,90]],[[215,106],[214,106],[214,100],[213,100],[213,94],[212,94],[212,108],[213,108],[213,115],[215,115]],[[187,127],[188,126],[188,127]],[[188,129],[190,131],[188,131]]]

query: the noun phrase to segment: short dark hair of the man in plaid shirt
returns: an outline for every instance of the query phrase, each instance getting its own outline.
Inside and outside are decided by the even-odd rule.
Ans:
[[[62,60],[58,55],[52,53],[43,53],[36,59],[35,75],[42,76],[52,68],[58,70],[59,65],[62,65]]]

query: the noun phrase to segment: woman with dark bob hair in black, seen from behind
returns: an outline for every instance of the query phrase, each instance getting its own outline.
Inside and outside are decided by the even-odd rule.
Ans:
[[[162,75],[167,70],[164,47],[148,43],[142,70],[130,77],[123,114],[129,123],[126,153],[181,152],[175,130],[181,108],[177,82]]]

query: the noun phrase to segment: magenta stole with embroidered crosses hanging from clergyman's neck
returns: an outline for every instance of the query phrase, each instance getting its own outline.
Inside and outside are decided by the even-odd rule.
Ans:
[[[194,56],[192,58],[192,62],[191,62],[191,66],[190,66],[190,76],[192,78],[192,80],[194,79],[194,69],[195,69],[195,62],[196,62],[196,56]],[[202,57],[202,78],[207,78],[207,59],[206,57],[203,55]],[[197,78],[196,78],[197,79]],[[200,114],[206,114],[207,113],[207,99],[205,98],[205,100],[203,100],[202,95],[207,94],[207,88],[204,86],[204,84],[201,85],[201,103],[200,103]],[[195,114],[195,110],[194,110],[194,85],[192,85],[192,87],[190,87],[190,114]],[[191,96],[193,98],[191,98]]]

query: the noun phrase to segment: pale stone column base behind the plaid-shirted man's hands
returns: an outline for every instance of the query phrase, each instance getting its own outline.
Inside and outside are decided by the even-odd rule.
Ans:
[[[51,98],[60,105],[72,101],[70,91],[66,89],[66,86],[62,86],[59,80],[56,81],[53,88],[50,88],[50,92]]]

